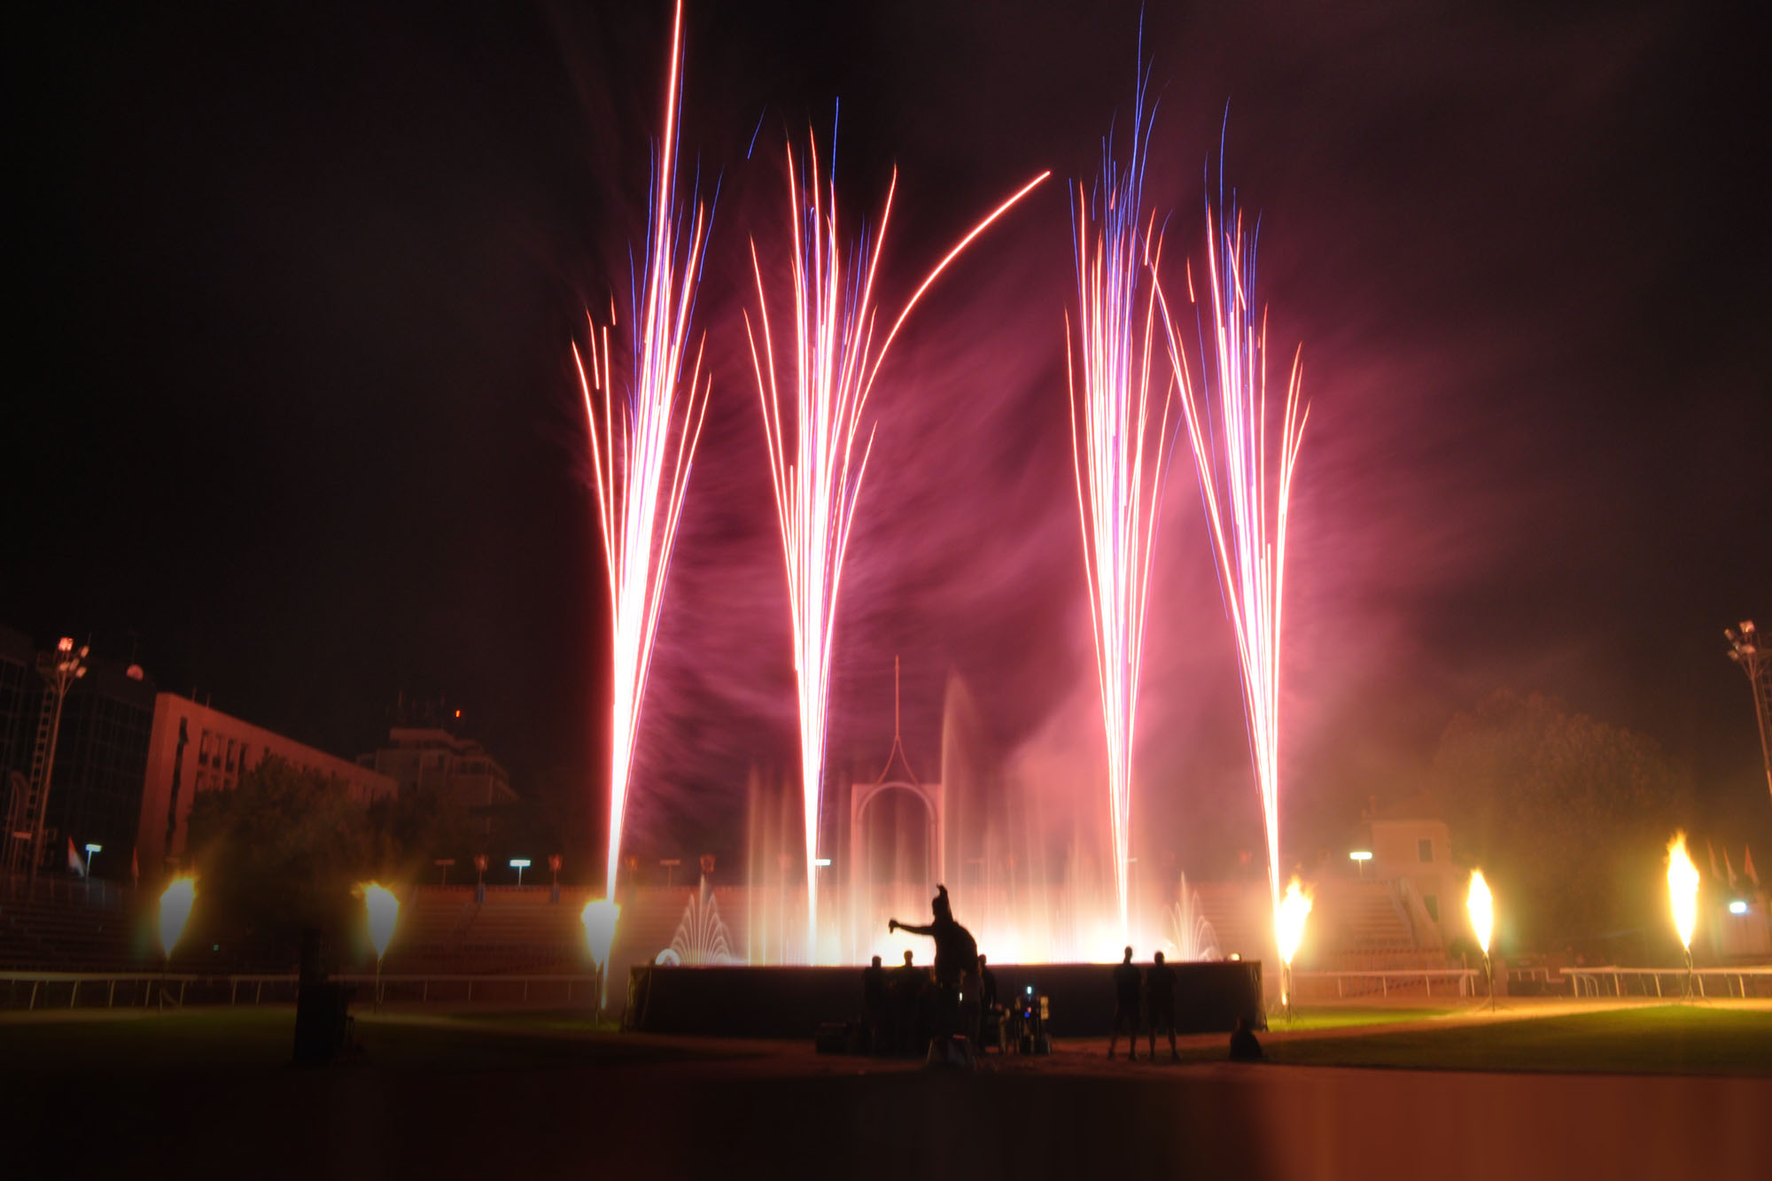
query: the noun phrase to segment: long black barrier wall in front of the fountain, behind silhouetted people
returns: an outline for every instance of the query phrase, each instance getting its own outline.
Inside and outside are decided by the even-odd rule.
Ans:
[[[1246,1018],[1267,1028],[1262,965],[1175,963],[1180,1034],[1228,1034]],[[1033,986],[1051,998],[1054,1037],[1106,1037],[1113,1023],[1113,968],[1106,963],[991,965],[1005,1004]],[[666,968],[627,977],[629,1028],[721,1037],[812,1037],[822,1021],[861,1014],[861,968]]]

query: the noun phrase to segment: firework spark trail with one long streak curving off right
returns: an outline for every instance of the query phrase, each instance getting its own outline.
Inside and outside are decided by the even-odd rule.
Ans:
[[[804,796],[806,842],[806,945],[808,961],[817,958],[819,931],[819,817],[824,796],[824,750],[831,699],[831,649],[836,635],[836,601],[849,550],[861,477],[874,449],[868,431],[856,459],[861,417],[898,330],[923,293],[941,277],[959,254],[992,222],[1026,197],[1049,174],[1042,172],[998,206],[968,232],[911,294],[891,328],[875,346],[879,309],[874,305],[874,280],[879,273],[881,246],[891,222],[891,202],[898,188],[893,172],[879,229],[867,227],[847,254],[838,241],[835,170],[819,179],[819,144],[808,137],[810,161],[804,176],[787,165],[792,222],[792,365],[787,383],[794,406],[783,411],[781,381],[776,376],[774,333],[769,323],[769,298],[764,289],[757,243],[751,243],[751,273],[757,280],[757,323],[744,314],[744,332],[751,348],[757,397],[769,443],[769,473],[776,518],[781,527],[781,557],[787,566],[789,615],[794,628],[794,677],[799,697],[801,791]],[[760,348],[758,348],[760,346]],[[789,442],[783,413],[794,417]]]

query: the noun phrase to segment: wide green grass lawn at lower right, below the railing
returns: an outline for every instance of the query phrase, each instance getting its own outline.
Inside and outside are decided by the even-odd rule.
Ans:
[[[1772,1075],[1772,1014],[1705,1005],[1611,1009],[1451,1028],[1276,1039],[1267,1044],[1267,1055],[1288,1066]]]

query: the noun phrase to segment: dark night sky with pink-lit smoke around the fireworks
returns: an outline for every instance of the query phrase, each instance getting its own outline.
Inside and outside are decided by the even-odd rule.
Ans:
[[[16,30],[0,621],[138,644],[163,688],[340,754],[397,692],[448,693],[523,791],[601,798],[601,546],[567,349],[587,305],[626,298],[668,5],[243,9],[62,5]],[[750,238],[767,255],[785,225],[783,137],[828,128],[836,98],[847,209],[900,168],[891,307],[1001,195],[1054,179],[882,374],[833,755],[884,752],[897,653],[927,759],[953,670],[1001,757],[1092,766],[1065,184],[1127,117],[1139,5],[688,20],[682,147],[721,186],[698,317],[716,383],[636,832],[718,841],[744,770],[792,750],[739,310]],[[1698,782],[1694,823],[1772,839],[1721,635],[1772,626],[1765,34],[1689,4],[1146,14],[1146,199],[1175,213],[1171,257],[1201,250],[1228,101],[1271,332],[1304,346],[1301,816],[1405,791],[1455,711],[1515,688],[1652,734]],[[1253,844],[1200,528],[1177,466],[1139,791],[1196,842]]]

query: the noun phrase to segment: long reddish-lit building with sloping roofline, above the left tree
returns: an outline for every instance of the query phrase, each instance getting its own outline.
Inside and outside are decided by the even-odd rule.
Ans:
[[[344,782],[363,805],[397,791],[395,780],[374,768],[338,759],[188,697],[159,693],[136,825],[144,871],[174,867],[184,858],[186,823],[197,793],[230,791],[243,773],[269,755]]]

